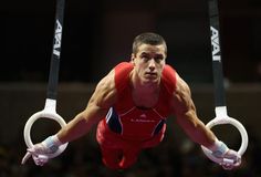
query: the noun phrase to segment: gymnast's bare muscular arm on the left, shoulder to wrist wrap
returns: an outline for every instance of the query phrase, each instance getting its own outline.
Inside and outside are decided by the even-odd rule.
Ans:
[[[115,100],[116,90],[112,71],[97,84],[86,108],[58,133],[61,143],[74,140],[88,133],[94,124],[105,117]]]

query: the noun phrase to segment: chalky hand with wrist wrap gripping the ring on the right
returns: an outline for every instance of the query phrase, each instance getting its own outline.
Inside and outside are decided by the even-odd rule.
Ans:
[[[241,164],[241,156],[237,152],[229,149],[221,140],[216,140],[211,150],[215,157],[223,159],[222,163],[220,163],[223,169],[230,170]]]

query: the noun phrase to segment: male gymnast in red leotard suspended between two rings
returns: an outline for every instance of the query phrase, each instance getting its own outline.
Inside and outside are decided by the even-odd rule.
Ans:
[[[128,168],[142,149],[161,142],[166,118],[175,115],[191,140],[209,148],[216,157],[234,162],[221,164],[223,168],[239,166],[238,153],[218,140],[198,118],[188,84],[166,64],[166,58],[163,37],[149,32],[137,35],[130,61],[119,63],[102,79],[86,108],[58,134],[29,148],[22,164],[32,156],[36,165],[44,165],[44,155],[97,124],[96,138],[104,164],[113,169]]]

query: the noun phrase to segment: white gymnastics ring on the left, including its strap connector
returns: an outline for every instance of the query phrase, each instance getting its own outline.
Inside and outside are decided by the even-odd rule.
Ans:
[[[29,148],[33,147],[33,143],[31,139],[31,127],[32,127],[33,123],[35,121],[38,121],[39,118],[50,118],[50,119],[56,121],[61,127],[64,127],[66,125],[65,121],[59,114],[56,114],[55,105],[56,105],[56,101],[46,98],[44,110],[40,111],[38,113],[34,113],[28,119],[28,122],[24,126],[24,129],[23,129],[23,137],[24,137],[24,142]],[[66,146],[67,146],[67,143],[59,146],[59,149],[55,153],[46,154],[46,156],[49,158],[54,158],[54,157],[59,156],[61,153],[63,153],[65,150]]]

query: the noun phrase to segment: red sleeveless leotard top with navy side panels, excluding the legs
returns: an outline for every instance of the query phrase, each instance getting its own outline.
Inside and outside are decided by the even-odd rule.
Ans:
[[[166,129],[166,118],[171,114],[169,98],[173,97],[176,87],[176,72],[166,65],[160,80],[159,98],[152,108],[138,108],[132,97],[129,73],[133,64],[119,63],[115,66],[115,86],[117,102],[109,108],[106,117],[97,127],[97,140],[102,144],[106,139],[115,137],[118,140],[154,142],[145,146],[159,143]]]

